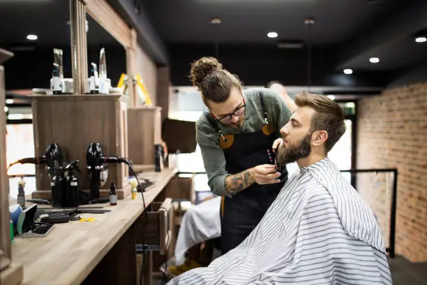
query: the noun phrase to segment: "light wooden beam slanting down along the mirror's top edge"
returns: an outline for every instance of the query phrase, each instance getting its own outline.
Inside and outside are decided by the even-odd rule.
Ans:
[[[130,28],[106,0],[85,0],[86,10],[108,33],[128,49],[131,45]]]

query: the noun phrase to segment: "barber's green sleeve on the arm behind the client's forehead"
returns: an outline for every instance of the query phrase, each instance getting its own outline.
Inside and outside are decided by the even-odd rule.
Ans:
[[[269,122],[273,124],[274,131],[280,137],[280,129],[289,122],[292,113],[287,108],[283,98],[273,90],[264,88],[262,95],[264,96],[265,108],[269,114]]]

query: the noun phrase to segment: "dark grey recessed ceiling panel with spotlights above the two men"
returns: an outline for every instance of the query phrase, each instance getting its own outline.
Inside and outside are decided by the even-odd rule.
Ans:
[[[306,17],[314,17],[315,45],[343,43],[375,20],[387,17],[404,1],[369,5],[366,0],[145,0],[154,26],[166,43],[275,43],[308,40]],[[212,17],[222,23],[214,26]]]

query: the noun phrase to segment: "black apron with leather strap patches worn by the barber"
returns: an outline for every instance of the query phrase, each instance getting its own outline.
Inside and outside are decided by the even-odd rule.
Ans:
[[[213,129],[220,136],[221,147],[223,147],[225,154],[225,169],[230,174],[240,173],[261,164],[274,164],[275,156],[272,145],[278,136],[276,136],[273,127],[268,125],[268,114],[265,112],[264,100],[261,95],[260,101],[265,124],[261,131],[253,133],[225,135],[220,131],[218,123],[211,114],[209,112],[204,113]],[[222,142],[230,142],[230,140],[232,145],[224,147]],[[243,242],[264,217],[265,212],[287,180],[286,168],[280,172],[282,175],[279,178],[279,183],[269,185],[255,183],[234,194],[232,198],[223,196],[220,209],[222,254],[226,254]]]

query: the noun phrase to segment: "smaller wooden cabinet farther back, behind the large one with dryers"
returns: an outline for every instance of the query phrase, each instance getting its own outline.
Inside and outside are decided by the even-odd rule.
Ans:
[[[128,108],[128,152],[136,169],[154,168],[156,145],[161,143],[160,107]]]

